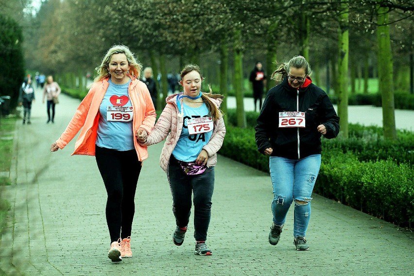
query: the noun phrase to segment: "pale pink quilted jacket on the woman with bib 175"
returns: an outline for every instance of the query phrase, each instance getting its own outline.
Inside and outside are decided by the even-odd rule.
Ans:
[[[173,153],[173,149],[177,144],[178,138],[180,138],[181,130],[183,128],[183,111],[178,112],[177,106],[177,95],[174,94],[167,97],[167,105],[164,107],[158,121],[156,122],[151,134],[148,136],[147,141],[143,144],[149,146],[156,144],[164,140],[164,147],[162,148],[161,155],[159,157],[159,163],[161,168],[167,172],[168,162],[170,161],[170,156]],[[217,106],[220,106],[221,101],[216,99],[211,99]],[[182,105],[182,99],[181,106]],[[181,107],[182,109],[183,107]],[[170,131],[171,130],[171,131]],[[207,145],[203,147],[207,151],[207,167],[215,166],[217,164],[217,152],[223,144],[225,136],[225,126],[223,118],[216,120],[214,122],[213,134],[211,135],[210,140]]]

